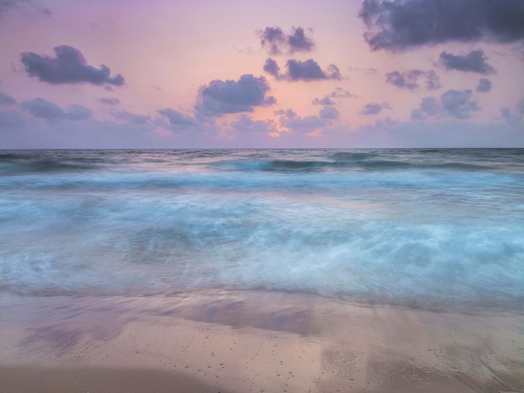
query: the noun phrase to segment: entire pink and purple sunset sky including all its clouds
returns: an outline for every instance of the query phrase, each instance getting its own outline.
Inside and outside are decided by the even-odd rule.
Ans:
[[[523,0],[0,0],[0,149],[524,147]]]

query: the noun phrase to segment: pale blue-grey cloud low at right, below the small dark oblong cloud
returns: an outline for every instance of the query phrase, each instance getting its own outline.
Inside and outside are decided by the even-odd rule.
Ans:
[[[472,112],[480,110],[472,97],[471,90],[448,90],[440,96],[440,101],[435,97],[424,97],[419,108],[411,113],[411,119],[425,120],[428,117],[446,116],[456,119],[469,118]]]

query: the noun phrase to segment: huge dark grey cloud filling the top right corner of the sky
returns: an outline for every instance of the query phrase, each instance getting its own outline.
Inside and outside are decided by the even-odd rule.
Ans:
[[[373,50],[524,40],[522,0],[364,0],[359,17]]]

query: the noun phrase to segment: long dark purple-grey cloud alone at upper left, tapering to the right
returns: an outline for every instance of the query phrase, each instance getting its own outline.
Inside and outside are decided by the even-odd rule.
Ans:
[[[35,52],[21,53],[20,59],[30,77],[51,84],[91,83],[121,86],[124,78],[121,74],[111,77],[111,70],[106,65],[95,68],[89,65],[80,50],[69,45],[54,47],[55,57],[40,55]]]

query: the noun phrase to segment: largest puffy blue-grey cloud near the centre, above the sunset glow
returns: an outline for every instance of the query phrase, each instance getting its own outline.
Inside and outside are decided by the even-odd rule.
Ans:
[[[272,105],[269,83],[264,77],[242,75],[238,81],[214,80],[199,89],[195,111],[198,116],[222,116],[226,113],[253,112],[255,106]]]

